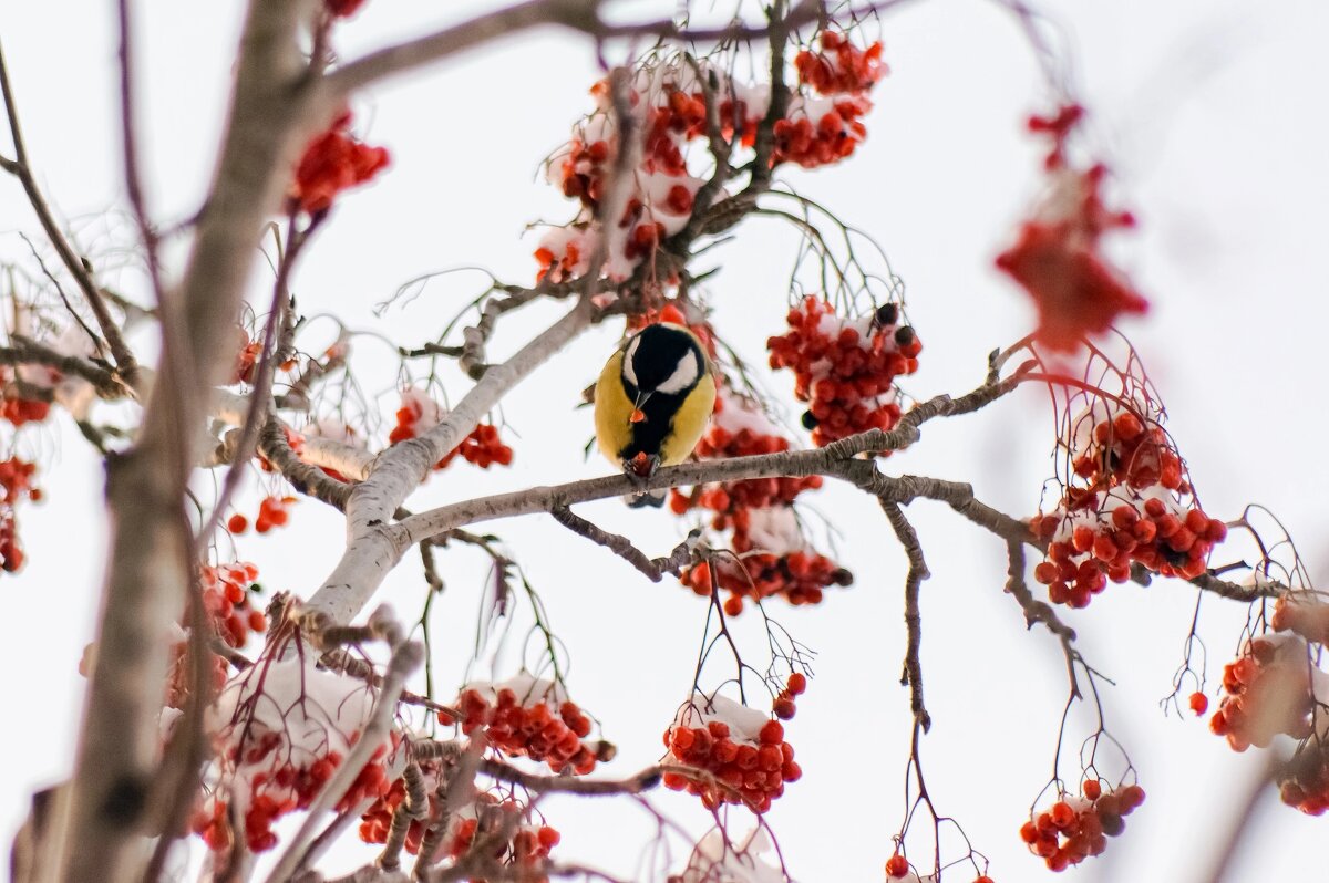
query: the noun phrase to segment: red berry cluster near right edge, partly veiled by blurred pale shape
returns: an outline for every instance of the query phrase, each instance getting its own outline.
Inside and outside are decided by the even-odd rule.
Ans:
[[[1241,655],[1223,667],[1223,701],[1209,718],[1213,734],[1227,737],[1237,752],[1267,748],[1280,733],[1310,737],[1316,696],[1306,660],[1306,643],[1297,635],[1247,641]]]

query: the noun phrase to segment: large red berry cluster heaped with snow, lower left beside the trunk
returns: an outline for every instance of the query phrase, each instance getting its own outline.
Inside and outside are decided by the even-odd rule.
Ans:
[[[361,681],[316,668],[308,655],[264,659],[222,690],[215,716],[211,793],[194,814],[193,830],[215,851],[231,847],[229,806],[243,818],[250,850],[276,846],[272,825],[306,809],[342,765],[369,717],[373,697]],[[380,745],[356,775],[336,811],[389,789]]]

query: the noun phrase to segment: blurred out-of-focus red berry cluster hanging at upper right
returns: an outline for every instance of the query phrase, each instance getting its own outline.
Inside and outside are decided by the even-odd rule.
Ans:
[[[997,258],[997,267],[1034,299],[1035,337],[1066,352],[1107,331],[1119,315],[1148,309],[1099,247],[1103,234],[1134,227],[1135,218],[1107,208],[1100,194],[1103,165],[1076,169],[1067,157],[1066,141],[1082,117],[1082,109],[1071,105],[1053,117],[1030,118],[1030,131],[1053,141],[1045,162],[1049,193],[1021,224],[1015,244]]]

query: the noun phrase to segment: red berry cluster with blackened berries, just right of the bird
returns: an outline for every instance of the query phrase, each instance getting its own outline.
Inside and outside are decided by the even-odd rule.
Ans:
[[[809,402],[803,425],[817,447],[900,420],[896,377],[918,369],[922,344],[900,324],[894,304],[859,319],[837,316],[825,300],[789,309],[789,331],[771,337],[771,368],[793,370],[793,394]]]

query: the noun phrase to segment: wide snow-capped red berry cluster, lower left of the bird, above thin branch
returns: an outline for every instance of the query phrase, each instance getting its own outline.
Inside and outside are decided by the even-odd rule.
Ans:
[[[513,757],[529,757],[557,771],[571,767],[585,775],[601,760],[599,748],[586,742],[590,718],[575,702],[561,698],[550,681],[516,677],[505,684],[470,684],[457,697],[461,732],[485,728],[489,745]],[[441,724],[452,718],[440,713]]]

